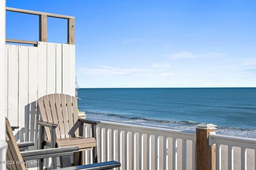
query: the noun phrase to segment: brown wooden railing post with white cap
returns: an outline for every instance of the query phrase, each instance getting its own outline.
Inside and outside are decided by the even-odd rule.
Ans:
[[[199,124],[196,128],[196,169],[215,170],[216,146],[209,146],[209,135],[215,133],[216,125]]]

